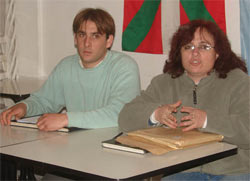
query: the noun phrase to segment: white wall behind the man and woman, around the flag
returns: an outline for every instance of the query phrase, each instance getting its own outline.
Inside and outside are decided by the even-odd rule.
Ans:
[[[240,53],[238,1],[226,1],[227,30],[232,48]],[[16,27],[18,73],[28,77],[47,77],[65,56],[76,53],[72,22],[76,13],[86,7],[107,10],[116,23],[116,37],[112,49],[121,51],[123,0],[17,0]],[[229,18],[228,18],[229,17]],[[138,63],[142,89],[152,77],[160,74],[167,55],[125,52]]]

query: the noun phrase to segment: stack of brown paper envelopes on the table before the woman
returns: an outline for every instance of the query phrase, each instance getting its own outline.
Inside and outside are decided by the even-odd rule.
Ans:
[[[177,149],[218,142],[222,139],[222,135],[200,132],[198,130],[183,132],[180,128],[154,127],[129,132],[125,136],[116,138],[116,141],[161,155]]]

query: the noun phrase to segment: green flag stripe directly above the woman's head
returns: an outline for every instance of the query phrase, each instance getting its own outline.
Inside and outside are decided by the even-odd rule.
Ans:
[[[180,1],[190,21],[195,19],[206,19],[215,22],[213,17],[207,11],[207,8],[203,0],[180,0]]]

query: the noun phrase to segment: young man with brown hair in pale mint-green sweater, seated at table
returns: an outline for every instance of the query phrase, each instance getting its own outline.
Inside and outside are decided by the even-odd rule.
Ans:
[[[9,125],[12,117],[33,115],[42,115],[37,126],[44,131],[118,125],[124,104],[140,92],[138,66],[131,57],[110,50],[115,24],[106,11],[80,11],[73,32],[78,54],[64,58],[38,92],[2,112],[2,125]],[[63,108],[67,112],[59,113]]]

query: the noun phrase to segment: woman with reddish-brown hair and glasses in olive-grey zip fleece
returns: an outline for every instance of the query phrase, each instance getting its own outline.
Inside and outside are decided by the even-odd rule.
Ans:
[[[249,76],[225,33],[213,22],[194,20],[173,35],[163,74],[125,105],[123,131],[166,125],[224,135],[238,154],[163,178],[249,180]]]

